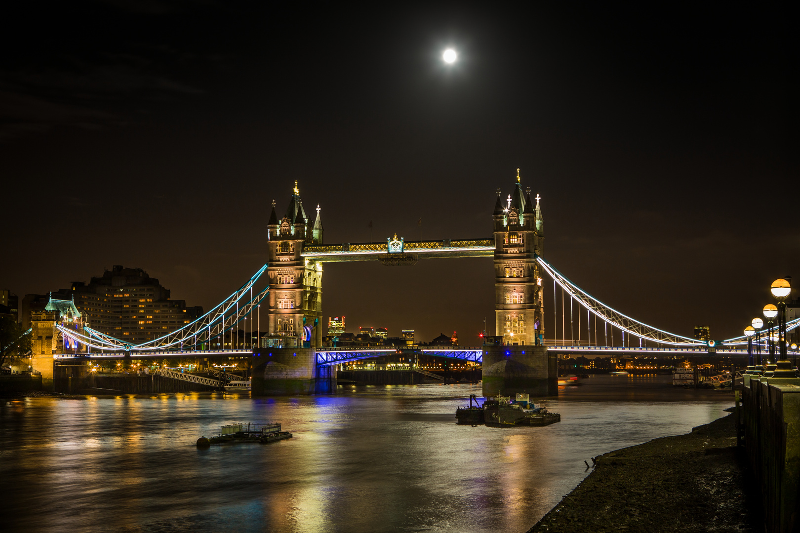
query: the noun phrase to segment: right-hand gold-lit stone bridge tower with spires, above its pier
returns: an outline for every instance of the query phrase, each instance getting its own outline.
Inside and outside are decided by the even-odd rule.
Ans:
[[[541,198],[522,192],[517,169],[514,191],[494,205],[495,330],[503,344],[541,344],[544,335],[542,276],[536,256],[542,253],[544,221]]]

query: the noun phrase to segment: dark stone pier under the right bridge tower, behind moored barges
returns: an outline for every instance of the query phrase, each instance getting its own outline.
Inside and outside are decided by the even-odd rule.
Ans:
[[[484,346],[483,396],[558,396],[558,360],[546,346]]]

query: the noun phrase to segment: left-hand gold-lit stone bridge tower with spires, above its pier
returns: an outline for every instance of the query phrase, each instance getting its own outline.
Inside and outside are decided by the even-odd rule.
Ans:
[[[286,215],[278,221],[275,201],[267,222],[267,273],[270,276],[268,334],[262,346],[322,346],[322,263],[301,257],[304,245],[322,244],[322,219],[312,228],[294,182]]]

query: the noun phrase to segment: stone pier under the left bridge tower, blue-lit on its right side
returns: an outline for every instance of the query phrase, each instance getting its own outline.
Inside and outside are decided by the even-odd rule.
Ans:
[[[253,396],[330,394],[336,388],[336,367],[318,367],[314,348],[261,348],[251,365]]]

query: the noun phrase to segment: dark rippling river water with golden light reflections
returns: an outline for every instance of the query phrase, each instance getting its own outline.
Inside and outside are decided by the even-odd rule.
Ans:
[[[584,459],[689,432],[733,404],[667,377],[563,389],[543,402],[562,415],[546,428],[456,425],[477,385],[0,400],[2,529],[523,533],[580,483]],[[194,445],[270,420],[294,438]]]

